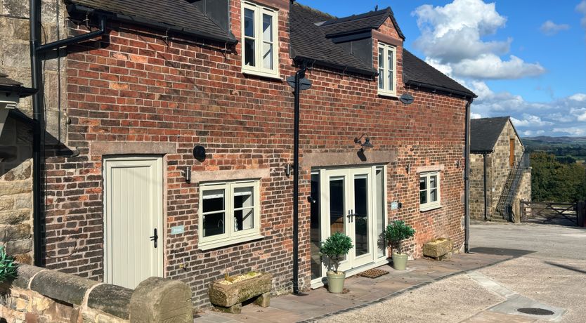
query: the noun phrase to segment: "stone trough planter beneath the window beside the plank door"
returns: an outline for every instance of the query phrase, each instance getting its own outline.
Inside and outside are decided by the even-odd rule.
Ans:
[[[259,272],[254,277],[247,276],[251,274],[235,276],[235,282],[219,279],[212,283],[208,291],[211,304],[223,312],[237,314],[242,311],[242,302],[255,298],[256,305],[267,308],[270,304],[273,275]]]

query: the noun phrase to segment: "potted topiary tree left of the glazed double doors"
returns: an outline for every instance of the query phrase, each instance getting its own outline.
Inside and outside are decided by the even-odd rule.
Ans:
[[[346,273],[338,271],[338,268],[340,261],[342,261],[344,256],[352,248],[352,239],[342,232],[334,232],[320,246],[322,256],[327,256],[327,291],[330,291],[330,293],[341,293],[344,291]]]

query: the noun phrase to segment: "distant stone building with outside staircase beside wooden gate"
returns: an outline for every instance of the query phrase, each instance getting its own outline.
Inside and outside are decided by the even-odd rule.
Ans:
[[[531,168],[511,118],[472,119],[470,136],[470,217],[519,222],[519,201],[531,200]]]

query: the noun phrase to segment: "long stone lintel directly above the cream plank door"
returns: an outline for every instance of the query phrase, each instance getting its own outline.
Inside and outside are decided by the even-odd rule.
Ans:
[[[89,153],[108,154],[173,154],[177,152],[176,143],[141,141],[92,141]]]

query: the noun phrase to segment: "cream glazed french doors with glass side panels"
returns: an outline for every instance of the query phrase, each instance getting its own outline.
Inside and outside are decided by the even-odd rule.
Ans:
[[[319,211],[320,241],[334,232],[344,232],[354,246],[341,261],[339,270],[348,271],[384,259],[385,248],[380,239],[386,225],[384,173],[384,166],[363,166],[320,169],[312,175],[312,199]],[[319,187],[318,194],[313,187]],[[315,218],[314,211],[312,218]],[[312,227],[317,228],[317,223]],[[313,253],[312,249],[312,261]],[[316,275],[318,268],[312,269],[315,280],[324,277],[327,271],[327,258],[321,260],[321,275]]]

